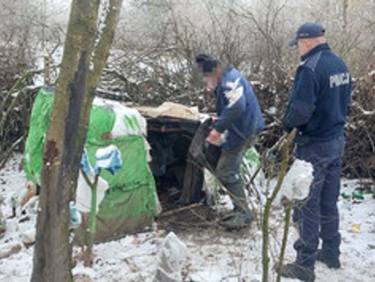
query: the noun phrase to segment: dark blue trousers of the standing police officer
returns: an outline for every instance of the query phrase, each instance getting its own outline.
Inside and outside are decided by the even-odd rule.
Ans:
[[[306,200],[297,202],[293,220],[299,229],[294,243],[297,265],[314,268],[319,237],[323,252],[333,258],[340,254],[338,197],[344,136],[326,142],[297,146],[295,157],[313,164],[314,179]]]

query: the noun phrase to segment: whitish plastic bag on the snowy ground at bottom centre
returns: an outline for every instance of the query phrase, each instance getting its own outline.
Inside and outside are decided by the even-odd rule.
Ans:
[[[181,264],[185,260],[188,249],[180,239],[170,232],[161,245],[158,269],[153,282],[181,282]]]

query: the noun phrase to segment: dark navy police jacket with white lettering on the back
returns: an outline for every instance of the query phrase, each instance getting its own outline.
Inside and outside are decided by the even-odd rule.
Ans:
[[[335,139],[344,135],[350,103],[347,66],[328,44],[320,44],[301,57],[283,127],[297,128],[299,145]]]

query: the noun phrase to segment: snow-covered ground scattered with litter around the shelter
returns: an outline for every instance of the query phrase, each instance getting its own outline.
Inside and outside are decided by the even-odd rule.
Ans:
[[[6,218],[12,215],[11,197],[25,186],[20,170],[21,156],[14,157],[0,170],[0,195],[5,198],[1,209]],[[351,193],[359,182],[345,180],[342,191]],[[330,270],[322,263],[316,265],[316,281],[375,281],[375,200],[371,195],[353,203],[340,197],[342,233],[342,268]],[[21,251],[0,259],[0,281],[29,281],[32,271],[33,247],[25,247],[22,234],[33,229],[36,215],[31,220],[19,222],[24,215],[7,220],[6,235],[0,240],[0,256],[15,245]],[[277,213],[276,213],[277,216]],[[279,216],[279,221],[282,220]],[[281,230],[277,228],[276,230]],[[281,233],[281,231],[279,232]],[[183,263],[184,281],[261,281],[261,232],[256,224],[240,232],[226,232],[219,227],[176,231],[185,243],[188,258]],[[281,234],[278,234],[278,236]],[[152,281],[158,265],[158,252],[167,231],[153,228],[144,233],[126,236],[121,240],[95,245],[94,267],[88,269],[78,263],[73,274],[76,281]],[[292,228],[288,240],[286,261],[292,261],[292,243],[297,238]],[[272,240],[272,252],[278,243]],[[278,240],[279,241],[279,240]],[[75,249],[78,252],[78,249]],[[274,254],[277,256],[277,254]],[[273,263],[271,263],[271,266]],[[271,270],[272,281],[275,275]],[[292,279],[283,279],[292,282]]]

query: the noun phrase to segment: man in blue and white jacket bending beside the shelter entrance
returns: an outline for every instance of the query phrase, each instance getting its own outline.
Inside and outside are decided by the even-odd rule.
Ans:
[[[207,141],[222,146],[215,175],[228,190],[234,203],[233,215],[223,224],[238,229],[252,220],[246,201],[240,165],[244,154],[265,127],[260,106],[249,82],[233,66],[223,67],[219,60],[208,55],[196,58],[206,88],[215,91],[217,119]]]

